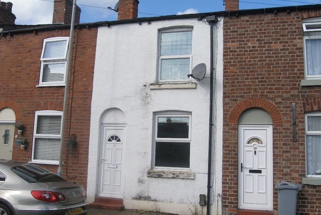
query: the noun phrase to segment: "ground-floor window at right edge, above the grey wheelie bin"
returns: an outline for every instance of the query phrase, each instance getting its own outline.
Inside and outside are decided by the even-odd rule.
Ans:
[[[321,177],[321,112],[305,114],[306,176]]]

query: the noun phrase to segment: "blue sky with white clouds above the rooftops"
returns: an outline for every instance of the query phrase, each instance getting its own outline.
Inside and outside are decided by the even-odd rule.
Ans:
[[[6,0],[13,2],[16,24],[48,24],[52,21],[54,0]],[[117,0],[77,0],[81,22],[116,20],[112,8]],[[321,0],[240,0],[240,9],[321,3]],[[138,17],[201,13],[224,10],[223,0],[139,0]]]

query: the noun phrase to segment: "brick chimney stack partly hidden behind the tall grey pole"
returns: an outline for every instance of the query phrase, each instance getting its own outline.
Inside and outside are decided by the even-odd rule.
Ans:
[[[54,0],[54,14],[52,17],[53,24],[71,24],[73,0]],[[75,23],[80,22],[79,6],[76,7]]]

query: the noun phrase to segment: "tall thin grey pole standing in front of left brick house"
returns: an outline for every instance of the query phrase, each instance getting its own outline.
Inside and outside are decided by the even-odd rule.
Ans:
[[[70,62],[72,59],[72,41],[74,35],[74,23],[75,23],[75,14],[76,14],[76,1],[74,0],[72,5],[72,15],[71,15],[71,24],[70,24],[70,36],[69,36],[69,44],[68,44],[68,59],[66,65],[66,85],[65,85],[65,94],[64,94],[64,107],[62,112],[62,119],[61,119],[61,141],[60,141],[60,155],[59,155],[59,167],[57,170],[57,174],[62,176],[62,154],[63,154],[63,146],[64,146],[64,136],[65,136],[65,119],[66,119],[66,112],[67,112],[67,99],[68,99],[68,88],[69,88],[69,70],[70,70]]]

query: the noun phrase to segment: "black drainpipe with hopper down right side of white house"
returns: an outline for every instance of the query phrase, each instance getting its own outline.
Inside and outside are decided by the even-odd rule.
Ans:
[[[217,21],[217,18],[215,15],[212,16],[207,16],[206,17],[206,21],[210,22],[210,27],[211,27],[211,35],[210,35],[210,45],[211,45],[211,68],[210,68],[210,117],[209,117],[209,154],[208,154],[208,170],[207,170],[207,204],[206,204],[206,214],[209,215],[210,214],[210,202],[211,202],[211,176],[212,176],[212,134],[213,134],[213,78],[214,78],[214,54],[213,54],[213,50],[214,50],[214,42],[213,42],[213,23],[214,21]]]

